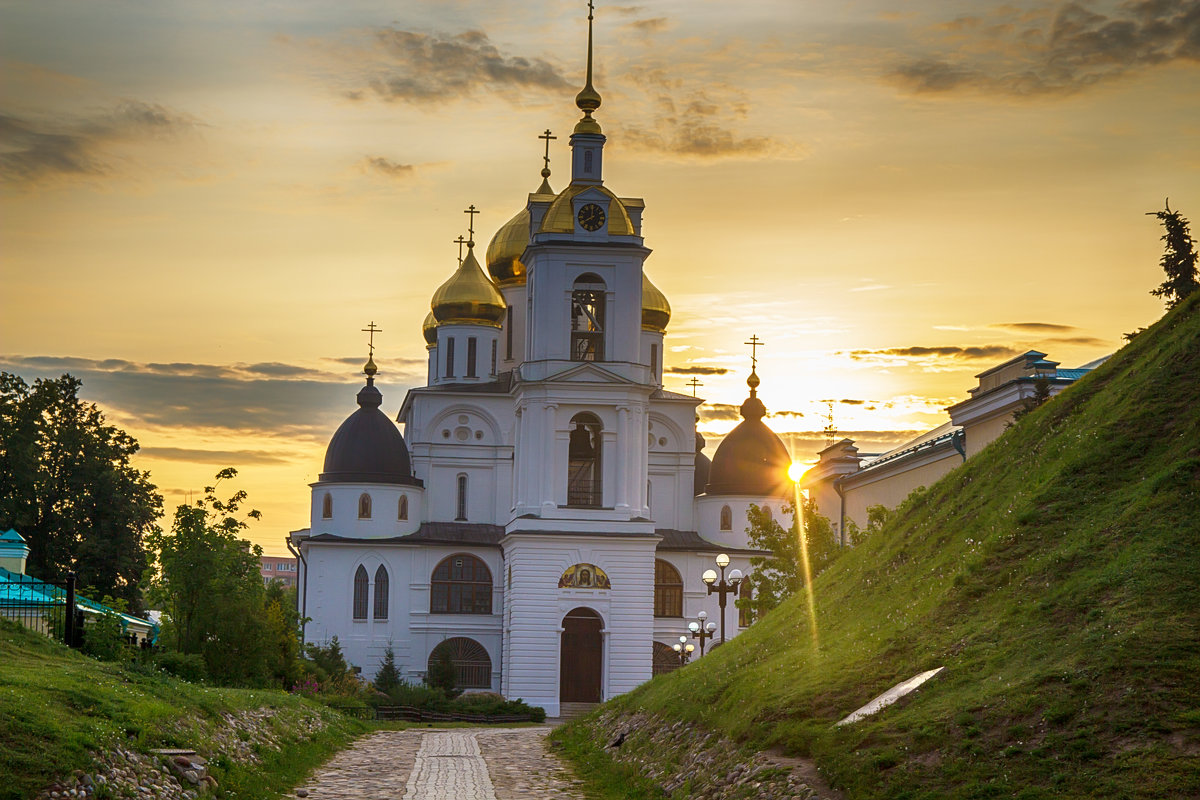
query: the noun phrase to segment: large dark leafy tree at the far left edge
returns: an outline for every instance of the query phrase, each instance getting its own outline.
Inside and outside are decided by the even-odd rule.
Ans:
[[[94,596],[140,608],[143,540],[162,498],[130,463],[137,440],[80,401],[80,386],[0,373],[0,530],[25,537],[30,575],[61,584],[74,570]]]

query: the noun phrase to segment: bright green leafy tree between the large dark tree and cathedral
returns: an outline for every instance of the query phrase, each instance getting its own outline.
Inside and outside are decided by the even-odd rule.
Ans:
[[[239,537],[247,519],[262,515],[239,516],[242,491],[227,500],[216,495],[216,486],[236,475],[232,468],[217,473],[203,499],[175,509],[169,535],[148,539],[157,553],[154,591],[170,618],[168,640],[180,652],[203,655],[212,680],[283,682],[295,675],[298,620],[284,612],[282,595],[268,597],[262,548]]]

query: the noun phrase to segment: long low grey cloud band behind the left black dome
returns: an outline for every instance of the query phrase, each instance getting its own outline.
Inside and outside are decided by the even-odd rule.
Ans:
[[[355,360],[361,363],[361,359]],[[0,357],[0,369],[25,380],[70,372],[80,395],[109,415],[148,427],[257,432],[325,440],[355,410],[360,377],[281,363],[134,363],[47,356]],[[384,408],[398,409],[419,369],[380,374]]]

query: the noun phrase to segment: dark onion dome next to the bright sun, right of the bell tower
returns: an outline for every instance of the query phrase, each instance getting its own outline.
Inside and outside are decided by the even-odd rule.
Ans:
[[[791,491],[787,468],[792,458],[775,432],[763,423],[767,408],[755,397],[758,377],[750,373],[750,397],[742,403],[742,422],[716,449],[706,492],[787,497]]]

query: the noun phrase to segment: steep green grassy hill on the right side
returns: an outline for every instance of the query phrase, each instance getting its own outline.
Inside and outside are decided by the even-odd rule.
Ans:
[[[809,756],[856,800],[1200,796],[1200,295],[815,590],[818,644],[792,597],[614,703]]]

